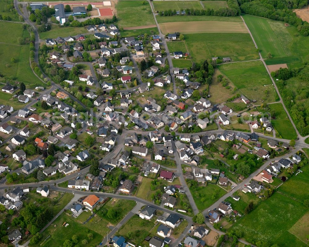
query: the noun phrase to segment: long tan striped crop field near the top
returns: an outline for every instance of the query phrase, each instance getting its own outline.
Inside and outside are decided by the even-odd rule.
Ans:
[[[223,21],[194,21],[194,22],[167,22],[160,23],[160,29],[163,34],[181,32],[188,33],[248,33],[244,23],[241,22],[223,22]]]

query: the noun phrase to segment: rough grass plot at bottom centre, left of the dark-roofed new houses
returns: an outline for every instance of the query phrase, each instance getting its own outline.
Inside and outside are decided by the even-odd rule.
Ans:
[[[116,232],[117,236],[124,236],[128,241],[135,246],[138,246],[151,229],[155,226],[149,220],[142,219],[138,215],[133,215],[121,228]],[[132,237],[128,238],[128,233],[132,232]]]

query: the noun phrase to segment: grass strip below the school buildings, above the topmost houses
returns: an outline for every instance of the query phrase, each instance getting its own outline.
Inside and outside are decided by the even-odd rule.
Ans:
[[[75,36],[81,33],[86,33],[84,27],[59,27],[58,25],[52,25],[52,28],[47,32],[40,32],[40,39],[46,40],[48,38],[55,39],[57,37]]]

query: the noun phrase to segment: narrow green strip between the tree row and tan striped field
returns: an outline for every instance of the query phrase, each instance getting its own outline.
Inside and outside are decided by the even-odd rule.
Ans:
[[[222,1],[224,2],[224,1]],[[239,16],[214,16],[214,15],[173,15],[173,16],[160,16],[157,15],[158,23],[165,22],[180,22],[180,21],[232,21],[243,22]]]

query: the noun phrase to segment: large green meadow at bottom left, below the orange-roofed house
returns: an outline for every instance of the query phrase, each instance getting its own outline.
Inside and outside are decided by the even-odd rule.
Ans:
[[[67,227],[62,226],[63,223],[69,224]],[[55,226],[56,225],[56,226]],[[55,226],[55,227],[54,227]],[[87,234],[92,233],[93,238],[91,240],[88,239]],[[82,240],[87,239],[88,246],[97,245],[103,239],[103,236],[96,233],[93,230],[85,228],[82,224],[79,224],[72,219],[71,216],[66,215],[66,213],[62,213],[54,222],[51,224],[43,233],[43,237],[41,238],[42,243],[47,236],[50,238],[44,241],[40,246],[49,247],[49,246],[62,246],[63,242],[66,239],[71,239],[73,235],[77,235],[78,243],[81,244]],[[35,245],[39,246],[39,245]]]

